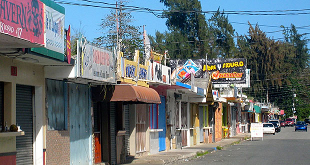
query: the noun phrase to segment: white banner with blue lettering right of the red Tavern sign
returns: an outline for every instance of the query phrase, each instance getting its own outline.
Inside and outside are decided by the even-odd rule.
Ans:
[[[64,14],[45,5],[46,48],[64,53]]]

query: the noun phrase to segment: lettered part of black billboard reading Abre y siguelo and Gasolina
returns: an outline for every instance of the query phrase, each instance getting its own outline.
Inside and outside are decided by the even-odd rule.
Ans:
[[[246,59],[216,58],[208,61],[212,83],[245,83]]]

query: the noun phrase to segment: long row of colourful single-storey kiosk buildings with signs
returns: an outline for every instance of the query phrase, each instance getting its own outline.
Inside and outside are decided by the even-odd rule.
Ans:
[[[1,5],[0,162],[117,164],[219,141],[270,117],[236,88],[213,90],[209,74],[177,78],[178,70],[125,59],[83,36],[70,55],[62,6],[6,1],[16,12]],[[20,130],[6,131],[11,124]]]

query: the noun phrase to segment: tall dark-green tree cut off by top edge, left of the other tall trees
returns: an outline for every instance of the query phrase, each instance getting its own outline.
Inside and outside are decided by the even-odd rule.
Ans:
[[[168,10],[201,11],[198,0],[160,0]],[[166,26],[169,30],[165,38],[166,49],[175,58],[204,58],[208,44],[201,41],[207,37],[205,16],[199,12],[163,11],[167,17]],[[171,43],[176,42],[176,43]]]

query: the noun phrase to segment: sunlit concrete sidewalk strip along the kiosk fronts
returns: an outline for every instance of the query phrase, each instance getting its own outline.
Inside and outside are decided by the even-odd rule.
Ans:
[[[198,152],[212,152],[216,150],[216,146],[226,147],[232,145],[234,142],[243,141],[244,137],[250,137],[250,133],[240,133],[231,138],[223,138],[218,142],[197,144],[191,147],[182,149],[170,149],[168,151],[161,151],[156,154],[147,156],[135,157],[128,160],[127,164],[167,164],[178,160],[189,160],[196,156]]]

